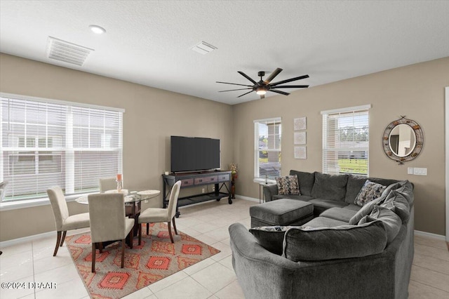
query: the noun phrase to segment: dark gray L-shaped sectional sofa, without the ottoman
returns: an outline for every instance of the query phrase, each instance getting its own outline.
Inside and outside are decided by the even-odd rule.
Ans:
[[[279,195],[277,186],[269,185],[265,199],[308,201],[314,205],[312,220],[272,232],[248,232],[240,223],[229,227],[232,263],[245,297],[408,298],[413,184],[318,172],[290,175],[297,175],[301,195]],[[354,200],[367,179],[387,188],[361,207]],[[273,242],[280,242],[281,255],[267,250]]]

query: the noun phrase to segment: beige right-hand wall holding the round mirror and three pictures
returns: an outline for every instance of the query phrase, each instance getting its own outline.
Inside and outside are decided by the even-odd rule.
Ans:
[[[309,74],[314,77],[314,74]],[[390,69],[233,106],[234,161],[239,164],[236,193],[259,196],[253,182],[253,120],[282,117],[282,174],[290,169],[321,171],[320,112],[371,104],[370,176],[407,179],[415,184],[415,230],[445,234],[444,87],[449,58]],[[382,133],[405,115],[420,124],[424,148],[417,159],[398,165],[382,150]],[[293,119],[307,117],[307,159],[293,157]],[[408,175],[408,167],[426,167],[427,176]]]

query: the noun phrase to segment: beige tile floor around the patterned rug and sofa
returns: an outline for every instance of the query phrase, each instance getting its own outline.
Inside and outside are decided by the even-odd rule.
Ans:
[[[126,298],[244,298],[232,269],[227,227],[234,222],[250,226],[249,207],[255,201],[235,199],[209,201],[181,208],[177,228],[207,244],[220,253],[142,288]],[[72,233],[77,234],[81,230]],[[72,263],[65,246],[53,257],[55,236],[1,248],[0,280],[55,282],[56,289],[0,289],[0,298],[89,298],[86,288]],[[415,236],[415,258],[409,298],[449,298],[449,252],[445,242],[430,237]]]

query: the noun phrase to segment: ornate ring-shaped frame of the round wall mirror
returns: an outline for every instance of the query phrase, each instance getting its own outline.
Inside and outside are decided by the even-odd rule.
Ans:
[[[400,124],[406,124],[407,126],[410,126],[412,128],[413,132],[415,133],[415,148],[408,153],[405,157],[398,157],[394,152],[391,151],[390,147],[390,134],[391,131],[393,131],[396,126]],[[385,154],[389,159],[397,161],[398,164],[404,164],[406,161],[411,161],[418,157],[422,150],[422,146],[424,145],[424,133],[422,133],[422,128],[420,124],[418,124],[416,121],[413,121],[412,119],[406,119],[406,117],[401,116],[400,119],[397,119],[396,121],[391,121],[391,123],[385,128],[384,135],[382,138],[382,147],[384,149]]]

